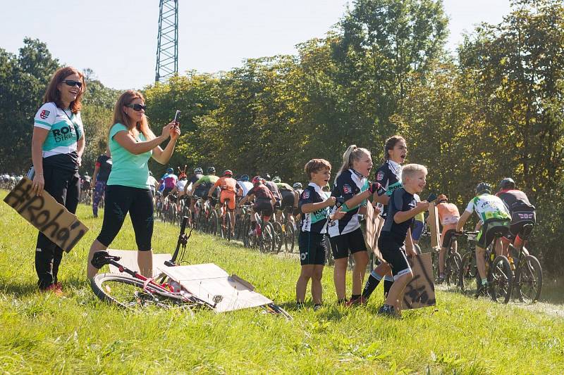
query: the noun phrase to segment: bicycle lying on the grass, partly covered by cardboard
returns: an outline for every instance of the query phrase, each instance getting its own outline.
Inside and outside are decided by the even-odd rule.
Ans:
[[[183,262],[186,245],[192,231],[185,234],[186,223],[188,217],[183,218],[180,227],[180,235],[176,243],[176,249],[170,261],[164,262],[167,267],[172,269]],[[114,265],[118,268],[120,274],[98,274],[92,279],[90,286],[92,291],[101,300],[109,303],[115,303],[121,307],[183,307],[190,312],[198,307],[214,310],[221,303],[223,295],[213,295],[210,300],[198,297],[195,293],[191,293],[187,288],[181,285],[177,280],[168,276],[162,276],[157,279],[149,279],[138,272],[128,269],[118,263],[120,257],[110,255],[107,251],[98,251],[94,253],[92,265],[97,269],[104,265]],[[235,278],[235,277],[233,277]],[[239,281],[242,281],[239,279]],[[246,283],[245,281],[242,281]],[[262,296],[264,297],[264,296]],[[267,298],[264,298],[268,300]],[[286,319],[292,319],[290,314],[283,310],[282,307],[268,300],[269,303],[262,305],[266,312],[281,314]]]

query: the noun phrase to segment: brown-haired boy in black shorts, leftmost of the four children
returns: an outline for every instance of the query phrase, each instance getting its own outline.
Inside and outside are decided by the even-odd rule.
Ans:
[[[324,159],[309,160],[305,165],[305,174],[309,185],[300,194],[298,209],[302,212],[300,224],[300,263],[302,272],[295,286],[296,303],[303,305],[305,290],[312,279],[312,299],[314,310],[321,307],[321,276],[325,265],[325,234],[329,207],[335,205],[336,198],[329,197],[321,186],[325,186],[331,177],[331,164]],[[345,212],[335,212],[333,219],[343,217]]]

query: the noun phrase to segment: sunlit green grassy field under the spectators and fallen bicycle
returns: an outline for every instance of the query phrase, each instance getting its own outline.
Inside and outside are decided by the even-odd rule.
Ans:
[[[0,192],[0,198],[5,195]],[[94,220],[86,206],[80,206],[78,216],[90,231],[64,255],[59,279],[65,293],[57,297],[37,291],[37,231],[0,204],[0,373],[564,372],[564,318],[542,307],[548,303],[497,305],[441,290],[435,308],[388,319],[376,315],[381,286],[366,307],[338,307],[328,267],[324,307],[295,310],[297,260],[209,236],[192,236],[187,260],[214,262],[238,274],[283,305],[293,321],[257,309],[198,311],[195,317],[180,310],[119,310],[97,300],[85,281],[87,250],[102,220]],[[156,252],[171,253],[177,235],[176,227],[157,223]],[[134,246],[127,220],[112,248]]]

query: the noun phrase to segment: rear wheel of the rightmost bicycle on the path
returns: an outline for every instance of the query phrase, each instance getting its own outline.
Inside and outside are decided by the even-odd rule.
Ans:
[[[521,260],[515,274],[515,293],[525,303],[534,303],[541,297],[542,268],[541,263],[533,255]]]

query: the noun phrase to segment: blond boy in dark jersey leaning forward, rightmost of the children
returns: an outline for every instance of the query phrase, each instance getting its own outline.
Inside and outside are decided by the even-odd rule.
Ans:
[[[408,164],[402,170],[403,188],[393,191],[388,202],[388,215],[380,237],[378,247],[392,267],[393,284],[386,303],[379,309],[380,314],[398,315],[397,301],[403,295],[403,290],[413,278],[413,273],[406,255],[416,255],[411,239],[411,224],[415,215],[429,208],[426,201],[417,202],[413,196],[421,193],[425,187],[427,168],[423,165]]]

